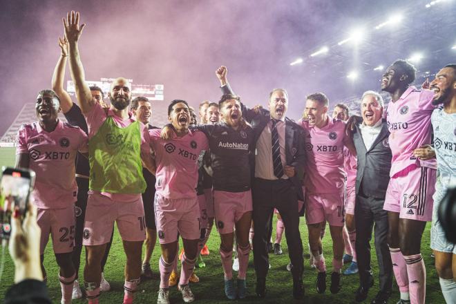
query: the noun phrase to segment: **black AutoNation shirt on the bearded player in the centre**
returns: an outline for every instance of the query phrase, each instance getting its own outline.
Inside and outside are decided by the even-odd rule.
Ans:
[[[194,126],[209,140],[213,189],[241,192],[250,189],[254,131],[250,126],[234,130],[224,122]]]

